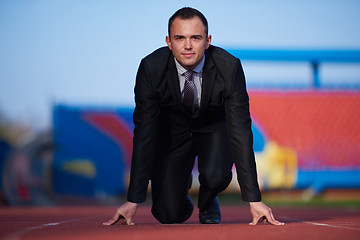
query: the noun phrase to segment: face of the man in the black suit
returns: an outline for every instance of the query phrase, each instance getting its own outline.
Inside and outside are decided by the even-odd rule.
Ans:
[[[187,70],[194,69],[203,59],[211,36],[206,36],[205,26],[200,18],[175,18],[170,27],[166,43],[176,60]]]

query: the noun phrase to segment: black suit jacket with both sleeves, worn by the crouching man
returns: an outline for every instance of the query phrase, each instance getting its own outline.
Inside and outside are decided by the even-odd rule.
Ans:
[[[190,132],[227,133],[243,200],[261,200],[249,97],[239,59],[215,46],[205,51],[200,108],[191,114],[181,102],[174,56],[168,47],[160,48],[140,63],[135,102],[128,201],[145,201],[161,136]]]

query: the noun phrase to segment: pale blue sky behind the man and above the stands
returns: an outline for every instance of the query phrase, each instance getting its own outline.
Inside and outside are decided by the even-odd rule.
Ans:
[[[56,103],[133,106],[139,62],[164,46],[168,18],[183,6],[204,13],[223,48],[360,49],[357,0],[0,0],[0,112],[43,129]],[[328,81],[344,81],[334,71],[360,79],[359,64],[324,69]],[[249,86],[306,84],[311,74],[306,64],[244,70]]]

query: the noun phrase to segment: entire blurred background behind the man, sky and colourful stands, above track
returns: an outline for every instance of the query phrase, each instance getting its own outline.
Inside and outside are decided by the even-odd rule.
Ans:
[[[136,71],[184,6],[242,61],[264,196],[360,202],[360,1],[0,0],[1,205],[124,196]]]

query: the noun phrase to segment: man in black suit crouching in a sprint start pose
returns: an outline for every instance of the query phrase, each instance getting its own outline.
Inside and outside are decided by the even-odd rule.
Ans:
[[[145,57],[139,66],[128,202],[104,225],[119,220],[132,225],[149,180],[154,217],[161,223],[187,220],[193,212],[188,189],[196,157],[200,223],[220,223],[217,195],[229,185],[235,163],[251,224],[263,217],[282,225],[261,202],[240,61],[210,45],[207,20],[193,8],[178,10],[169,19],[168,31],[168,47]]]

